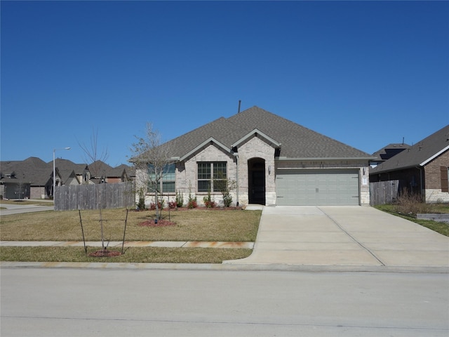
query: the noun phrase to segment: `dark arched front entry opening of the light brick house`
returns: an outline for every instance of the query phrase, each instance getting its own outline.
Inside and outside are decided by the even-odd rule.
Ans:
[[[265,204],[265,160],[248,160],[248,194],[250,204]]]

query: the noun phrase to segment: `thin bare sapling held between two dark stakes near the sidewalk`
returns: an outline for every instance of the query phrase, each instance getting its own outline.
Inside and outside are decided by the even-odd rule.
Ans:
[[[100,176],[100,169],[101,169],[101,162],[106,161],[108,154],[107,149],[102,150],[102,152],[98,151],[98,131],[94,130],[91,136],[91,143],[89,145],[86,145],[84,143],[79,143],[79,146],[81,147],[81,150],[83,150],[85,154],[84,160],[86,163],[91,162],[92,164],[89,165],[89,171],[91,172],[91,176],[93,177],[99,177]],[[103,216],[102,216],[102,193],[100,186],[98,184],[95,184],[95,194],[97,195],[97,202],[98,202],[98,212],[99,212],[99,223],[100,223],[100,231],[101,231],[101,248],[102,251],[105,251],[105,232],[103,228]]]

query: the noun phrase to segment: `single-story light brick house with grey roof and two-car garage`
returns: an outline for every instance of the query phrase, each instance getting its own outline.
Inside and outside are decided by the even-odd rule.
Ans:
[[[369,154],[282,117],[251,107],[221,117],[161,145],[170,150],[160,189],[173,200],[189,194],[199,204],[217,181],[236,182],[233,204],[368,205]],[[148,173],[136,172],[138,187]],[[145,186],[146,187],[146,186]],[[147,201],[152,194],[147,193]]]

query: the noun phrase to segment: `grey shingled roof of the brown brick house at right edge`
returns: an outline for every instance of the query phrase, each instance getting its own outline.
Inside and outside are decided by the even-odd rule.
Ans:
[[[449,150],[449,125],[432,133],[429,137],[404,150],[391,159],[384,161],[370,174],[409,169],[414,166],[424,166],[432,159]]]

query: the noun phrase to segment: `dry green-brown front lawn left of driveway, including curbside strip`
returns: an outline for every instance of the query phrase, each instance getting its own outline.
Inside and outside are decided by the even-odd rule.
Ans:
[[[126,241],[254,242],[262,211],[203,210],[163,211],[166,227],[142,227],[154,211],[128,211]],[[121,241],[126,209],[102,210],[106,241]],[[100,241],[98,211],[81,211],[86,241]],[[2,241],[82,241],[78,211],[44,211],[2,216]],[[95,250],[89,247],[89,252]],[[48,262],[221,263],[249,256],[250,249],[132,247],[123,256],[91,258],[79,247],[1,247],[0,260]]]

